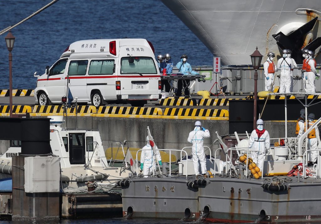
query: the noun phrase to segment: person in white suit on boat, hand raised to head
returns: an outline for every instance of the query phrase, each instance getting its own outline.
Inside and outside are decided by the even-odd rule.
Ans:
[[[202,174],[206,174],[206,158],[203,147],[204,138],[210,137],[210,131],[202,127],[201,121],[195,122],[195,128],[189,132],[187,141],[192,143],[192,155],[195,175],[199,175],[198,160],[201,163]]]

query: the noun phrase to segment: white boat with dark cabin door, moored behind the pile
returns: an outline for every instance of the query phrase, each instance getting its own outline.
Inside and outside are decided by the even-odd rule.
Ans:
[[[101,185],[115,185],[128,176],[130,168],[111,166],[105,157],[99,130],[71,130],[62,128],[63,117],[51,116],[50,147],[60,157],[63,188],[78,188],[88,181]],[[121,147],[124,153],[123,147]],[[11,177],[12,156],[21,153],[21,147],[10,147],[0,157],[0,179]]]

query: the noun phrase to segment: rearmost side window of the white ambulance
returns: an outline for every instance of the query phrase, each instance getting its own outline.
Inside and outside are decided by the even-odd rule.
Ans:
[[[115,60],[91,60],[88,75],[112,75],[115,72]]]

